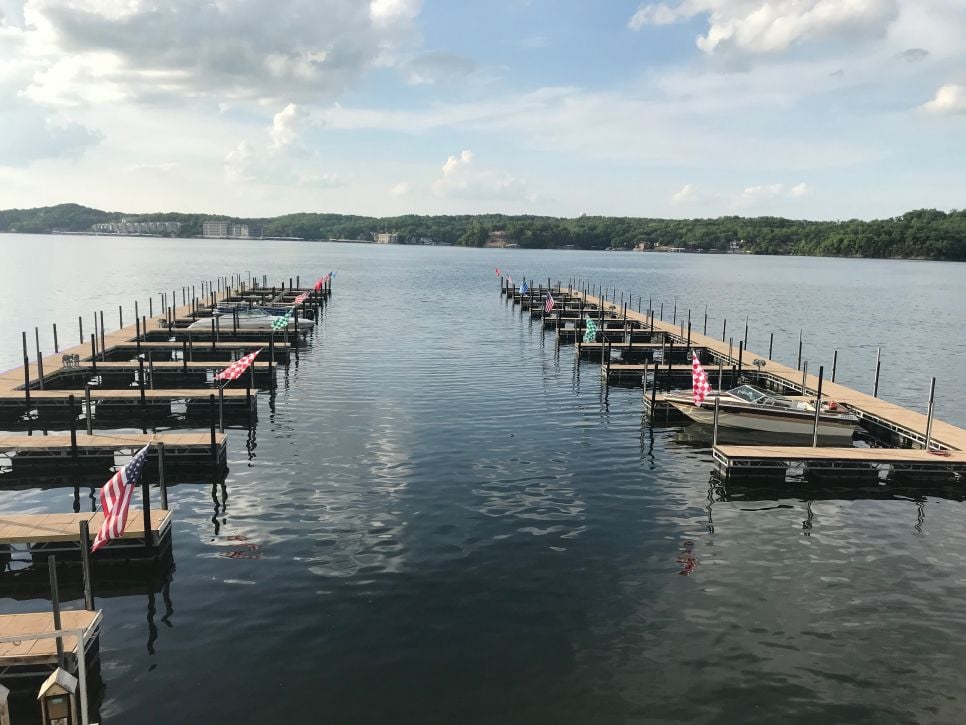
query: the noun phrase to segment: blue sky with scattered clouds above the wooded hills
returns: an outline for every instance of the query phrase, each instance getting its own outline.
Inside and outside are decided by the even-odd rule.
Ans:
[[[966,206],[966,0],[0,0],[0,208]]]

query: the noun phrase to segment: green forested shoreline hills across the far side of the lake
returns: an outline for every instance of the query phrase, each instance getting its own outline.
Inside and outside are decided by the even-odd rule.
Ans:
[[[727,216],[716,219],[637,217],[507,216],[502,214],[367,217],[347,214],[286,214],[238,218],[213,214],[124,214],[77,204],[0,211],[0,231],[85,232],[97,223],[118,221],[181,222],[179,236],[199,236],[206,219],[229,219],[260,229],[266,237],[306,240],[370,239],[393,232],[401,243],[483,246],[494,232],[521,248],[633,249],[685,247],[751,254],[830,257],[966,260],[966,210],[910,211],[889,219],[806,221],[780,217]]]

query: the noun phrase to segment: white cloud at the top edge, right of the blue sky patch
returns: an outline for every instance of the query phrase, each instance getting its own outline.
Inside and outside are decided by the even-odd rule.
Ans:
[[[882,37],[898,13],[898,0],[680,0],[642,4],[628,26],[706,15],[707,32],[697,39],[705,53],[778,53],[807,42]]]

